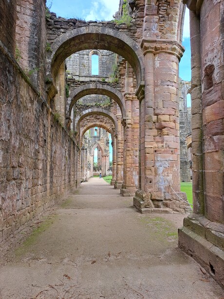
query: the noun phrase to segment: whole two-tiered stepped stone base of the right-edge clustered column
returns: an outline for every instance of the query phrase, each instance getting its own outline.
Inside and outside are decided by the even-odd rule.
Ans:
[[[191,214],[178,230],[178,245],[224,288],[224,224]]]

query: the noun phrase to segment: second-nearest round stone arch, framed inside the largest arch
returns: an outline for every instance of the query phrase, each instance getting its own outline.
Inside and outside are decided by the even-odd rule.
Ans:
[[[70,100],[68,99],[68,103],[67,103],[68,117],[71,116],[72,108],[77,100],[81,99],[82,97],[93,95],[93,94],[108,96],[109,98],[115,100],[115,102],[118,104],[118,106],[121,109],[122,117],[125,118],[126,116],[125,101],[123,100],[123,96],[121,92],[119,92],[116,88],[110,85],[100,84],[97,82],[81,85],[75,88],[75,90],[71,92],[69,97]]]

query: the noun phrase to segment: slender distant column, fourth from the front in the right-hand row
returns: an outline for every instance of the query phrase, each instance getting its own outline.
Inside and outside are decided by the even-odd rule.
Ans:
[[[120,189],[123,184],[123,150],[124,140],[122,134],[122,116],[116,115],[117,119],[117,155],[116,155],[116,180],[114,182],[114,189]]]

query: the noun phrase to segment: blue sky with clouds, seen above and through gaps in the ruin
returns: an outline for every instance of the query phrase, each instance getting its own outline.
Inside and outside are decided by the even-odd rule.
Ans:
[[[118,11],[120,0],[47,0],[47,6],[57,17],[76,18],[82,20],[112,20],[113,15]],[[186,8],[183,46],[185,53],[180,61],[180,78],[186,81],[191,80],[190,68],[190,30],[189,10]],[[187,97],[187,106],[190,107],[190,97]],[[110,142],[110,161],[112,160],[112,146]]]

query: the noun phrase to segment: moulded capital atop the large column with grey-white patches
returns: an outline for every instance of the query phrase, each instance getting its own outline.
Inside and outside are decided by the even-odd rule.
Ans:
[[[185,51],[185,48],[177,40],[166,39],[142,39],[141,48],[144,55],[147,53],[168,53],[175,55],[179,60]]]

